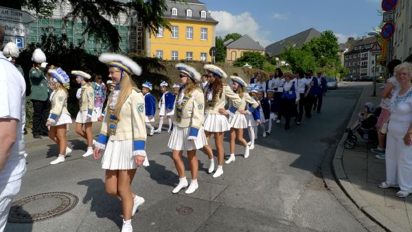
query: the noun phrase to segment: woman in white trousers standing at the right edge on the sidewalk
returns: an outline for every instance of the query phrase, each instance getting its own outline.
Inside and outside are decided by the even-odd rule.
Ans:
[[[395,196],[412,193],[412,65],[403,62],[395,68],[400,89],[391,98],[386,148],[387,179],[380,188],[399,187]]]

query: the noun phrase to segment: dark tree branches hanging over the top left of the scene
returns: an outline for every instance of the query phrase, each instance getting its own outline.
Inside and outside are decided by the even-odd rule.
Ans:
[[[186,0],[172,0],[181,2]],[[135,12],[137,20],[141,21],[151,33],[157,33],[159,27],[170,30],[170,23],[163,19],[163,12],[168,10],[166,0],[65,0],[71,5],[71,12],[65,20],[80,20],[87,23],[84,33],[88,33],[98,41],[107,45],[111,51],[119,51],[121,38],[115,25],[108,19],[119,20],[119,16]],[[61,0],[2,0],[1,5],[21,10],[23,7],[34,10],[37,16],[50,17]]]

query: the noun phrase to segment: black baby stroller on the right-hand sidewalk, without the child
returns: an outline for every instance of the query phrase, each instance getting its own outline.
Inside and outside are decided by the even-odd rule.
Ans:
[[[358,124],[355,128],[346,128],[345,132],[347,132],[347,137],[345,142],[343,142],[343,146],[347,149],[352,149],[355,147],[356,142],[358,141],[358,137],[356,137],[355,132],[358,132],[361,135],[361,138],[365,141],[377,141],[378,140],[378,132],[376,132],[376,121],[378,121],[375,114],[368,115],[367,119]]]

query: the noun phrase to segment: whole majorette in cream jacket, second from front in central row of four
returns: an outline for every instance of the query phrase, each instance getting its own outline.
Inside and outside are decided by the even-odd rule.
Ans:
[[[202,89],[196,82],[201,80],[201,74],[193,67],[177,64],[181,89],[176,97],[176,110],[173,117],[173,130],[170,135],[168,147],[172,149],[174,166],[179,174],[179,184],[172,193],[178,193],[187,187],[185,165],[182,161],[183,151],[187,151],[192,181],[185,194],[192,194],[198,189],[198,159],[196,150],[207,145],[205,132],[203,131],[203,111],[205,110],[205,98]]]

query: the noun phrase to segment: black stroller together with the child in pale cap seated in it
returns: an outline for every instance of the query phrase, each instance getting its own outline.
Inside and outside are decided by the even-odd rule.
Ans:
[[[354,124],[350,128],[346,128],[347,139],[343,145],[347,149],[352,149],[355,146],[356,141],[358,141],[355,132],[361,135],[361,138],[366,141],[376,141],[376,131],[375,124],[378,118],[374,114],[374,104],[371,102],[366,102],[363,104],[363,110],[358,113],[358,117]]]

